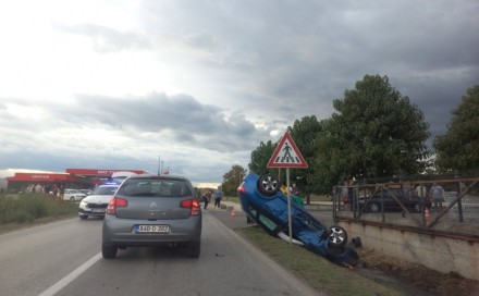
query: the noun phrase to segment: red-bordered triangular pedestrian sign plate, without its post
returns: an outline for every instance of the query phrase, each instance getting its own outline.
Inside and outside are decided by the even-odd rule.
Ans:
[[[306,169],[308,168],[308,164],[299,152],[299,149],[297,149],[290,133],[286,132],[281,138],[280,144],[278,144],[278,147],[267,166]]]

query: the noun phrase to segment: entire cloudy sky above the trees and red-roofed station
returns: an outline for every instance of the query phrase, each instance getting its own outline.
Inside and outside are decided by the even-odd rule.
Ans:
[[[219,183],[388,75],[433,136],[479,84],[479,1],[0,1],[0,177],[135,169]]]

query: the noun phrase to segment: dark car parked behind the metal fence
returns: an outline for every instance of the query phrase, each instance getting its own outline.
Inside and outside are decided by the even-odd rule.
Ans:
[[[365,212],[403,211],[401,205],[408,211],[421,212],[425,200],[417,195],[414,188],[381,188],[371,196],[360,197],[358,202],[359,210]],[[426,200],[426,202],[430,207],[430,201]]]

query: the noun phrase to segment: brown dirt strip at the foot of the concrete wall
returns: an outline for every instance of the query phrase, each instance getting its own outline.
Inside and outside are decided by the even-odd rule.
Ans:
[[[361,260],[357,272],[377,282],[394,285],[408,295],[478,295],[479,281],[457,273],[444,274],[420,264],[385,256],[374,249],[356,249]]]

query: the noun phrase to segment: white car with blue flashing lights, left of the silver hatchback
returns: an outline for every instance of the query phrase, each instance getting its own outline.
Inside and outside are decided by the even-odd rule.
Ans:
[[[114,193],[120,185],[100,185],[93,194],[82,199],[78,206],[78,215],[81,219],[91,217],[105,217],[108,202],[113,198]]]

